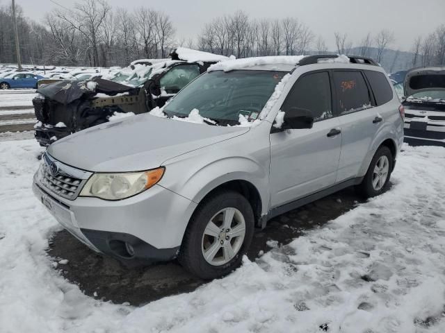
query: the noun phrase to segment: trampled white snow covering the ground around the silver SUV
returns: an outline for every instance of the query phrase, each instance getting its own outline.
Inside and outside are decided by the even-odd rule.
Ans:
[[[0,142],[2,333],[445,332],[444,148],[405,146],[387,193],[140,308],[85,296],[58,274],[45,250],[60,227],[31,192],[40,149]]]

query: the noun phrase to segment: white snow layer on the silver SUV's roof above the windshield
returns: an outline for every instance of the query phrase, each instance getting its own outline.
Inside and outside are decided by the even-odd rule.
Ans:
[[[296,67],[305,56],[267,56],[244,59],[231,59],[211,65],[207,71],[233,71],[235,69],[259,69],[267,65],[267,69],[290,70]],[[283,66],[284,65],[284,66]]]

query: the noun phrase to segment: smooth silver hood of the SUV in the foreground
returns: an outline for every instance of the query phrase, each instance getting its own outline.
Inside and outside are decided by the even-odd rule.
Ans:
[[[56,160],[87,171],[142,171],[248,130],[188,123],[145,113],[74,133],[51,144],[47,151]]]

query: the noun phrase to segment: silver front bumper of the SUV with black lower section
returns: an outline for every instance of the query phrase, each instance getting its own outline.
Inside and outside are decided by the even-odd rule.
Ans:
[[[119,201],[56,196],[34,178],[35,196],[83,244],[123,262],[167,261],[177,255],[196,204],[168,189]]]

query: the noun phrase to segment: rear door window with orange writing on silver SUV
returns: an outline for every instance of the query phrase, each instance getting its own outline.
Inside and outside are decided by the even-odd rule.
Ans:
[[[334,71],[339,114],[371,108],[368,86],[360,71]]]

